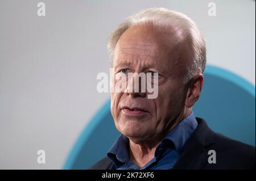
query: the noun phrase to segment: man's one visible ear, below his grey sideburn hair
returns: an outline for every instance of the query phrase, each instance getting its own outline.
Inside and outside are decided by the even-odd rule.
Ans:
[[[202,90],[204,83],[204,75],[198,74],[191,79],[188,83],[187,96],[185,100],[185,106],[190,108],[193,104],[196,103],[197,99],[199,99],[200,92]]]

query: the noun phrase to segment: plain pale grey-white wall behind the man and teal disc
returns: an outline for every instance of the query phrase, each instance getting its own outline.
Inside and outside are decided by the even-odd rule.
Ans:
[[[107,38],[127,16],[166,7],[190,16],[208,44],[208,64],[255,85],[255,1],[0,0],[0,169],[62,169],[89,119],[109,98]],[[208,16],[208,3],[217,16]],[[225,60],[225,61],[223,61]],[[38,164],[37,150],[46,151]]]

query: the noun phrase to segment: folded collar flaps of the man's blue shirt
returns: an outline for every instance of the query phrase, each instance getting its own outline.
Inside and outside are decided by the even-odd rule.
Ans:
[[[177,124],[176,127],[163,138],[159,146],[163,146],[166,144],[166,142],[168,142],[168,140],[170,140],[174,144],[175,149],[177,151],[181,151],[185,141],[187,141],[188,137],[193,133],[193,131],[195,131],[196,127],[197,121],[192,111],[188,117],[180,121],[180,123]],[[156,148],[156,150],[159,149],[159,146]],[[117,138],[113,146],[109,149],[107,154],[108,157],[112,159],[115,166],[117,166],[119,163],[129,161],[128,148],[129,139],[121,134],[121,136]]]

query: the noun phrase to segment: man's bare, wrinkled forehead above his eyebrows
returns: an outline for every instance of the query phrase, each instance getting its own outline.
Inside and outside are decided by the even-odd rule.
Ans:
[[[178,64],[180,44],[174,32],[150,25],[129,28],[118,40],[113,65],[137,64],[170,68]]]

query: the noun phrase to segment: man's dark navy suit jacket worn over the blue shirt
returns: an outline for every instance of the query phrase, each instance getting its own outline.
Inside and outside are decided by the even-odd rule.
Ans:
[[[255,169],[255,148],[213,132],[201,118],[188,138],[173,169]],[[209,150],[216,151],[216,163],[208,163]],[[114,170],[108,157],[89,169]]]

